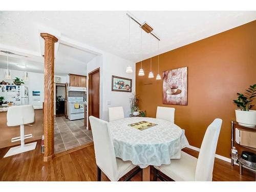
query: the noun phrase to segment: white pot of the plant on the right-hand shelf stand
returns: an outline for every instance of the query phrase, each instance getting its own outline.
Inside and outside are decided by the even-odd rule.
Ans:
[[[236,120],[240,125],[255,127],[256,126],[256,111],[241,111],[236,110]]]

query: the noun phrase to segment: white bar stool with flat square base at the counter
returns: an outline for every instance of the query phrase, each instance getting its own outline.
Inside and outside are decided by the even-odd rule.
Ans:
[[[33,105],[10,106],[7,111],[7,126],[20,125],[20,145],[10,148],[4,157],[24,153],[34,150],[36,142],[25,144],[24,125],[35,121],[35,112]]]

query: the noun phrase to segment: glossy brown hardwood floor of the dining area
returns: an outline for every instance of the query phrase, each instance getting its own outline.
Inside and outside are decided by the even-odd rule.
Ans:
[[[54,158],[44,162],[40,150],[40,140],[36,149],[23,154],[3,158],[9,147],[0,149],[0,181],[96,181],[96,163],[93,145],[78,151]],[[185,148],[184,151],[198,156],[198,152]],[[120,179],[122,181],[126,176]],[[141,181],[139,173],[132,181]],[[102,181],[109,179],[102,174]],[[151,167],[151,180],[153,180],[153,167]],[[215,160],[214,181],[255,181],[255,174],[244,169],[239,174],[239,166],[220,159]]]

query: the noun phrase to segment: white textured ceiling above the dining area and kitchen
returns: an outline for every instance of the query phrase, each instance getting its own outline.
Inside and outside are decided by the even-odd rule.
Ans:
[[[161,38],[160,53],[256,19],[256,11],[132,11],[131,13],[141,23],[146,21],[154,28],[154,32]],[[41,28],[51,29],[52,33],[59,36],[134,62],[141,60],[140,28],[131,20],[129,41],[129,17],[126,16],[126,11],[2,11],[0,12],[0,48],[9,46],[17,50],[26,50],[38,56],[31,60],[42,63],[42,59],[39,58],[41,37],[38,33]],[[158,54],[157,40],[152,38],[151,49],[150,35],[144,31],[142,44],[143,59]],[[55,71],[62,74],[85,68],[86,63],[95,56],[96,54],[59,44],[55,55]],[[38,63],[31,61],[32,65],[37,66]]]

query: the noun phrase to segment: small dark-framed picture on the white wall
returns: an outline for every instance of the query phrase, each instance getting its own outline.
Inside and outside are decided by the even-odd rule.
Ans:
[[[112,91],[132,92],[132,79],[112,75]]]

